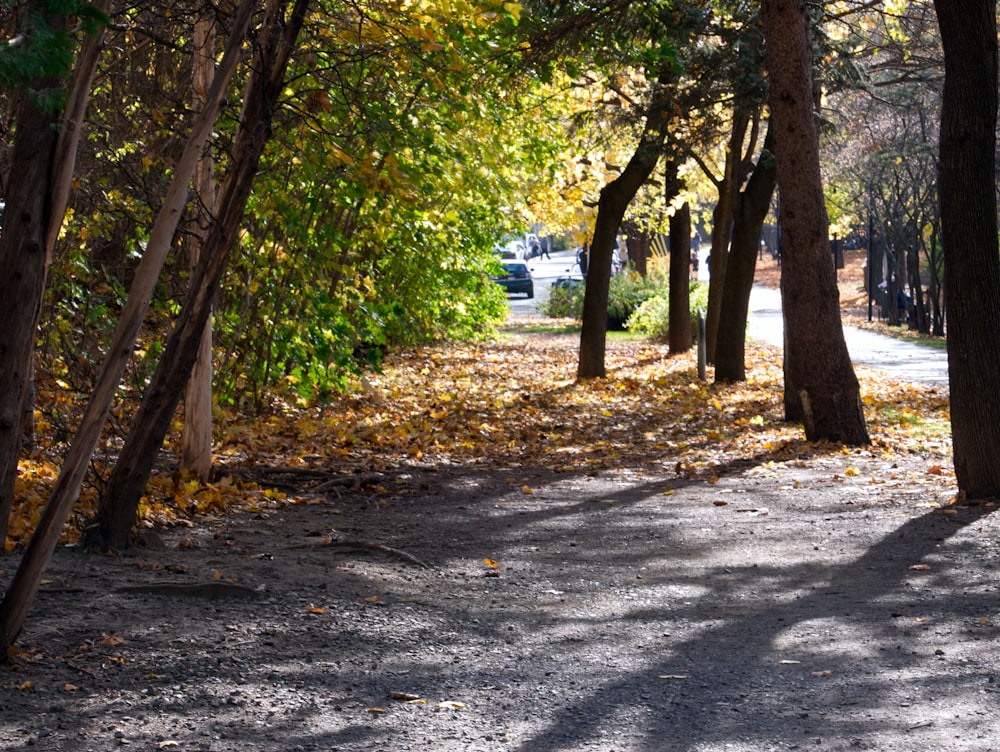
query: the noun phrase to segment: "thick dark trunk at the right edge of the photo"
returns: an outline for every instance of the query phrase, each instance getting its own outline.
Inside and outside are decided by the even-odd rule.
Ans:
[[[938,192],[958,488],[1000,496],[995,0],[935,0],[944,47]]]

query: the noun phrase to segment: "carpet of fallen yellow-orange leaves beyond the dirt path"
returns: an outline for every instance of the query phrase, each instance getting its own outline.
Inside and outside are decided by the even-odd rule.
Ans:
[[[260,417],[224,416],[216,426],[213,482],[184,478],[166,462],[147,486],[141,524],[190,524],[305,503],[311,487],[329,487],[331,479],[388,495],[399,489],[381,486],[379,474],[406,466],[667,471],[711,482],[726,468],[858,454],[880,458],[885,471],[871,478],[847,472],[842,480],[905,480],[908,488],[933,489],[927,498],[936,499],[954,484],[945,390],[860,368],[871,445],[811,444],[801,426],[784,421],[781,354],[774,348],[748,345],[747,381],[713,384],[698,379],[693,350],[671,355],[651,341],[609,340],[607,377],[579,381],[578,343],[573,334],[515,331],[491,342],[413,348],[390,355],[380,373],[322,406],[278,403]],[[178,442],[175,432],[168,459]],[[55,444],[45,436],[37,443]],[[928,457],[926,475],[895,478],[893,457],[911,451]],[[292,482],[276,485],[280,474]],[[55,451],[38,450],[20,463],[8,550],[30,536],[57,475]],[[91,481],[66,541],[78,536],[96,500]]]

